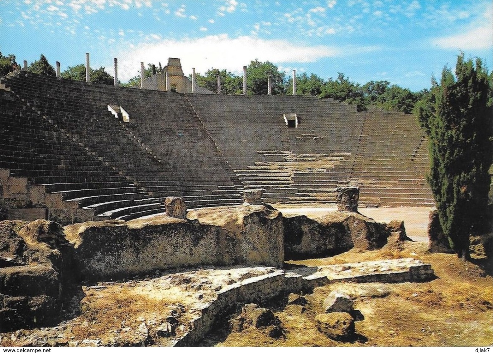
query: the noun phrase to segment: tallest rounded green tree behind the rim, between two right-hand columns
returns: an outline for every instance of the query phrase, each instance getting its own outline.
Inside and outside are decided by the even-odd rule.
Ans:
[[[272,76],[272,94],[284,94],[286,74],[271,62],[262,63],[257,59],[246,67],[246,93],[266,95],[269,75]]]

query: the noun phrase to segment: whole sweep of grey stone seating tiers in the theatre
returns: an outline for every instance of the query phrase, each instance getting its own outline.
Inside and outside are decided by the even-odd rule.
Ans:
[[[214,193],[226,196],[218,203],[228,198],[241,203],[237,188],[243,186],[265,187],[270,200],[317,195],[325,202],[330,192],[324,189],[344,184],[364,185],[363,198],[400,203],[395,193],[416,195],[413,189],[427,188],[426,141],[411,115],[357,112],[355,106],[313,97],[185,95],[35,74],[1,83],[10,90],[0,90],[1,103],[9,106],[0,110],[8,125],[5,141],[20,142],[0,142],[0,167],[83,205],[130,202],[119,209],[151,214],[161,210],[156,200],[185,190],[191,192],[188,207],[216,203],[206,200]],[[118,121],[108,104],[124,107],[131,121]],[[297,114],[297,128],[285,125],[287,112]],[[258,152],[268,150],[304,156]],[[330,153],[342,158],[326,156],[322,163],[315,156]],[[399,186],[389,188],[391,181]],[[298,188],[311,195],[296,196],[302,194]],[[63,193],[70,190],[85,191]],[[374,197],[380,190],[387,199]],[[132,204],[136,200],[142,201]],[[140,210],[143,205],[148,206]]]

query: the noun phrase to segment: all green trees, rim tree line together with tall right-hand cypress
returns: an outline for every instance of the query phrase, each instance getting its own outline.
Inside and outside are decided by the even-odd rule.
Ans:
[[[19,70],[15,56],[0,53],[0,77]],[[41,55],[28,71],[55,76],[55,70]],[[148,64],[144,76],[162,72]],[[292,78],[270,62],[251,61],[246,67],[247,94],[267,94],[268,75],[272,94],[292,94]],[[211,91],[242,94],[243,77],[232,72],[210,69],[197,74],[197,84]],[[83,64],[69,67],[62,77],[85,80]],[[113,84],[105,68],[91,70],[91,81]],[[364,85],[350,81],[343,73],[324,80],[303,72],[296,76],[296,94],[332,98],[356,104],[359,110],[369,106],[413,112],[428,136],[430,173],[427,181],[436,201],[443,233],[450,246],[463,259],[469,259],[471,235],[485,235],[485,252],[493,255],[492,205],[489,199],[493,161],[493,72],[481,59],[465,60],[458,55],[455,71],[445,67],[440,80],[432,77],[431,89],[412,92],[388,81],[370,81]],[[131,78],[126,87],[139,87],[140,76]],[[491,193],[491,190],[490,190]],[[489,235],[488,235],[489,234]]]

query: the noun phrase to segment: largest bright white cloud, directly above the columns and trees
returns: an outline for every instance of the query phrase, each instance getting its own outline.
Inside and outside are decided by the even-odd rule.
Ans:
[[[121,78],[128,80],[135,75],[141,61],[163,62],[170,57],[181,58],[183,71],[194,67],[205,72],[211,67],[240,72],[251,60],[278,63],[310,63],[321,58],[336,57],[354,53],[359,49],[344,49],[327,45],[303,46],[287,40],[260,39],[250,36],[230,38],[228,35],[208,35],[195,39],[165,39],[158,43],[141,43],[134,50],[122,48],[118,54],[121,60]],[[362,50],[372,50],[362,48]]]

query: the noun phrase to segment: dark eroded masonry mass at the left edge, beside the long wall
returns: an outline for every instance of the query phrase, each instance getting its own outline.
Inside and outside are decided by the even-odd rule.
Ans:
[[[50,324],[77,270],[58,223],[0,222],[0,331]]]

